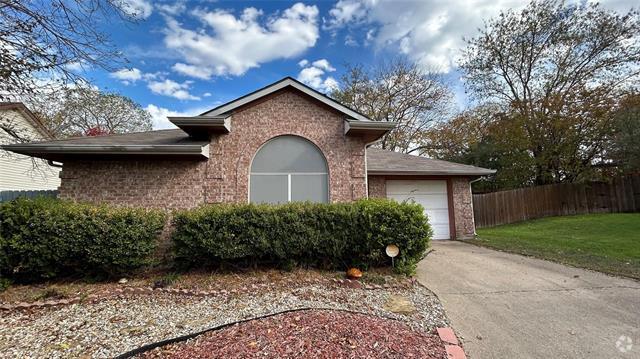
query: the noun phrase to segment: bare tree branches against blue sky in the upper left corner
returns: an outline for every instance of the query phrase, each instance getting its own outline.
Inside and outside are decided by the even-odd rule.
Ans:
[[[0,0],[0,101],[29,101],[86,83],[82,68],[112,69],[125,60],[100,21],[135,21],[126,0]],[[0,118],[5,135],[14,128]],[[13,136],[16,141],[29,140]]]

